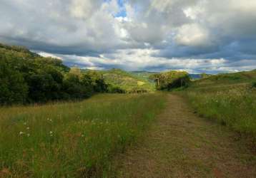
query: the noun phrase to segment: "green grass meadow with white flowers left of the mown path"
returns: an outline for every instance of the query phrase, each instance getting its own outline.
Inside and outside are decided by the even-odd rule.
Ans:
[[[112,157],[143,134],[164,102],[161,93],[104,94],[0,108],[0,177],[104,177]]]

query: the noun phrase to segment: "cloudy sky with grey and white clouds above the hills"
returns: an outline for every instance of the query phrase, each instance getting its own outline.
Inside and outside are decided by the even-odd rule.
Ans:
[[[0,0],[0,42],[90,69],[256,68],[255,0]]]

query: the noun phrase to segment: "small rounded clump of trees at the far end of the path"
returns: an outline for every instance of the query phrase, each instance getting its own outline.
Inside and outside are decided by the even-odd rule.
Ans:
[[[169,71],[156,73],[149,77],[156,83],[157,90],[172,90],[174,88],[186,87],[189,82],[189,74],[184,71]]]

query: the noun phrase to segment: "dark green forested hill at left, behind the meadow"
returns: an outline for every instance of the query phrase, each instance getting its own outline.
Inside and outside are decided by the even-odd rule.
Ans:
[[[82,73],[59,59],[0,44],[0,105],[81,99],[98,92],[107,92],[99,73]]]

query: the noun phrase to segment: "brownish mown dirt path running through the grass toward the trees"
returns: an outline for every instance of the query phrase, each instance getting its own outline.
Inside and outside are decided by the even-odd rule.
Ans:
[[[226,127],[197,117],[177,95],[144,141],[119,160],[118,177],[256,177],[256,158]]]

